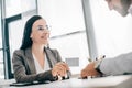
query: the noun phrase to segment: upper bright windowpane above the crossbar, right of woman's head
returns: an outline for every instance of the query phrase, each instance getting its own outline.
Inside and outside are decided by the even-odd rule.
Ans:
[[[52,36],[85,30],[81,0],[38,0],[38,14],[52,25]]]

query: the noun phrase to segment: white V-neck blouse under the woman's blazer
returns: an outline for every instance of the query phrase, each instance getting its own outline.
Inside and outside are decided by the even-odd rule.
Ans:
[[[44,62],[44,69],[41,67],[41,65],[40,65],[40,63],[34,54],[33,54],[33,59],[34,59],[35,68],[36,68],[36,74],[44,73],[44,72],[51,69],[46,55],[45,55],[45,62],[43,61]]]

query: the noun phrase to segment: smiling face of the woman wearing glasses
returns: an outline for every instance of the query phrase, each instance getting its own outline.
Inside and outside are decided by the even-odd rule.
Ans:
[[[48,26],[46,25],[46,21],[44,19],[36,20],[33,23],[32,32],[30,36],[33,43],[37,44],[47,44],[50,37]]]

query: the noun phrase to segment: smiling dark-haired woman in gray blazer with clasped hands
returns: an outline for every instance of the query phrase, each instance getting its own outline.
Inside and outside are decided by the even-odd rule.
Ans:
[[[46,21],[34,15],[24,28],[22,45],[13,53],[14,77],[18,82],[55,81],[69,78],[69,67],[62,62],[57,50],[47,47],[50,31]]]

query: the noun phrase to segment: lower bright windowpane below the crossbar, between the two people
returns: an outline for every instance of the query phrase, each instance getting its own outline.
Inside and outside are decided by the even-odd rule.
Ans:
[[[88,45],[85,32],[53,38],[50,45],[59,51],[63,61],[69,65],[73,74],[80,73],[88,64]]]

